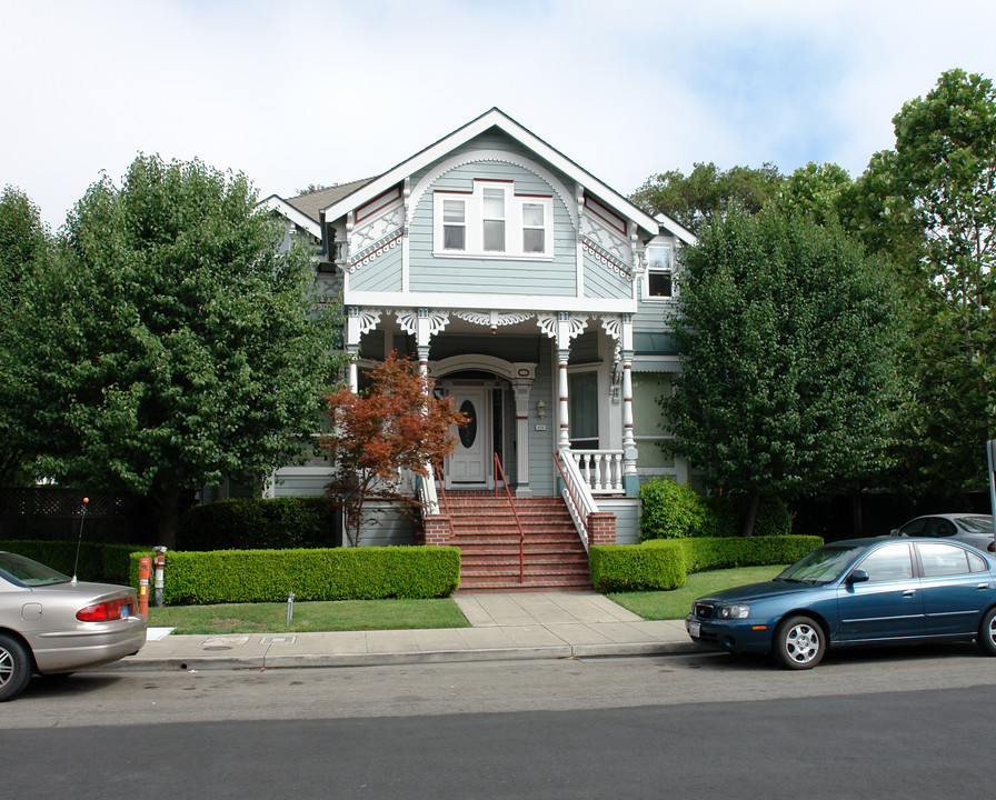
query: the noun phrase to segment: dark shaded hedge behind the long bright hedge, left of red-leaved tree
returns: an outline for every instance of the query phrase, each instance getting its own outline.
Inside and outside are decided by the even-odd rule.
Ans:
[[[335,502],[323,497],[218,500],[183,512],[177,548],[187,552],[336,547],[337,519]]]

